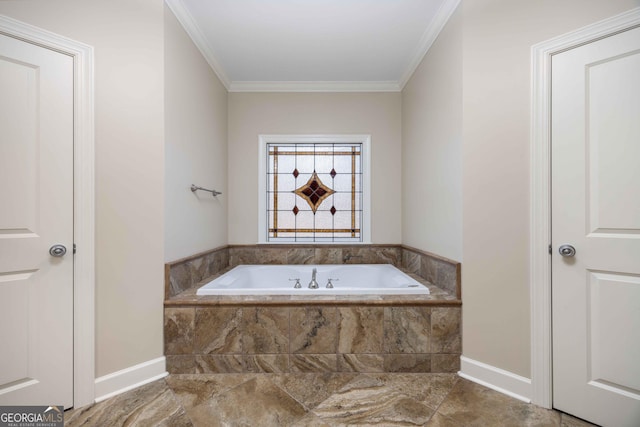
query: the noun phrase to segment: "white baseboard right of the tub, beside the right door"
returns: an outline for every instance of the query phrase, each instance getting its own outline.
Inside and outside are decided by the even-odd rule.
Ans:
[[[464,356],[460,357],[458,375],[515,399],[531,403],[532,388],[529,378]]]

